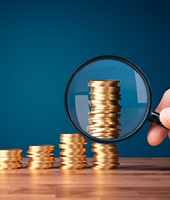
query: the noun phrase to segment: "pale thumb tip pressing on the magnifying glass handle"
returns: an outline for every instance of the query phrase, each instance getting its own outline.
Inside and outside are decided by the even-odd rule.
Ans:
[[[162,124],[166,128],[170,129],[170,107],[164,108],[163,110],[161,110],[159,118]]]

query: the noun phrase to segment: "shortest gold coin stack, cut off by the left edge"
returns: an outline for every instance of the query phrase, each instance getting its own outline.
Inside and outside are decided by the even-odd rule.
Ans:
[[[0,169],[18,169],[22,166],[22,149],[1,149]]]

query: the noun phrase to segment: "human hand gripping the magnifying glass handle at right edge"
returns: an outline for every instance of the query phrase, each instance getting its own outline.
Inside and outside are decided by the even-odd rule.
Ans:
[[[154,122],[150,123],[147,140],[152,146],[160,144],[167,135],[170,138],[170,89],[164,93],[155,111],[160,113],[159,119],[167,129]]]

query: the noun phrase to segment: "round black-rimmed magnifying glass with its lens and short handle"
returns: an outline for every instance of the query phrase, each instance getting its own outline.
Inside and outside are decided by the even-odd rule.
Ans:
[[[96,82],[101,84],[97,84],[99,87],[95,89],[93,83]],[[107,82],[111,84],[104,84],[107,85],[104,89],[102,83]],[[120,89],[119,93],[112,92],[115,90],[114,82]],[[93,99],[94,90],[97,91],[98,97],[100,96],[99,99],[97,96],[95,100]],[[100,91],[104,92],[100,94]],[[94,105],[91,102],[92,100],[99,102],[103,96],[107,99],[103,99],[105,100],[103,102],[109,101],[110,104],[98,114],[101,117],[103,111],[104,116],[111,121],[112,125],[108,126],[107,120],[104,120],[105,123],[102,126],[94,129],[94,124],[90,123],[91,119],[94,119],[92,115]],[[115,97],[117,97],[116,104],[118,103],[118,107],[121,108],[116,113],[114,109],[111,109],[115,106]],[[147,120],[162,125],[159,121],[159,113],[152,111],[151,105],[151,88],[145,74],[131,61],[118,56],[99,56],[84,62],[70,75],[65,86],[64,107],[71,125],[83,137],[96,143],[114,144],[128,139],[137,133]],[[107,132],[115,130],[114,115],[118,116],[116,120],[119,120],[117,124],[120,126],[119,129],[116,127],[119,130],[117,137],[107,139],[98,137],[100,134],[91,134],[91,132],[100,132],[104,129],[105,132],[106,129]]]

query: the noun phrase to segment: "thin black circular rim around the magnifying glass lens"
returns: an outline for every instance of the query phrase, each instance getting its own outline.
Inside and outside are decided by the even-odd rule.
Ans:
[[[76,74],[81,71],[84,67],[86,67],[88,64],[98,61],[98,60],[117,60],[117,61],[121,61],[123,63],[126,63],[127,65],[129,65],[130,67],[132,67],[136,72],[138,72],[140,74],[140,76],[142,77],[143,81],[145,82],[145,86],[146,86],[146,90],[147,90],[147,97],[148,97],[148,104],[147,104],[147,108],[146,108],[146,112],[145,115],[141,121],[141,123],[130,133],[120,137],[120,138],[114,138],[114,139],[102,139],[102,138],[97,138],[97,137],[93,137],[90,134],[87,134],[85,131],[83,131],[82,129],[79,128],[79,126],[77,126],[74,123],[74,120],[71,117],[71,114],[69,112],[69,106],[68,106],[68,91],[71,85],[72,80],[74,79],[74,77],[76,76]],[[65,109],[65,113],[67,118],[69,119],[71,125],[73,126],[73,128],[80,133],[83,137],[96,142],[96,143],[103,143],[103,144],[114,144],[114,143],[118,143],[121,142],[123,140],[126,140],[130,137],[132,137],[135,133],[137,133],[138,130],[140,130],[142,128],[142,126],[144,125],[145,121],[147,121],[148,116],[151,112],[151,105],[152,105],[152,98],[151,98],[152,94],[151,94],[151,88],[150,88],[150,84],[148,79],[146,78],[145,74],[141,71],[141,69],[135,65],[134,63],[132,63],[131,61],[119,57],[119,56],[114,56],[114,55],[103,55],[103,56],[97,56],[94,58],[91,58],[89,60],[87,60],[86,62],[82,63],[81,65],[79,65],[74,72],[70,75],[70,77],[67,80],[67,83],[65,85],[65,90],[64,90],[64,109]]]

